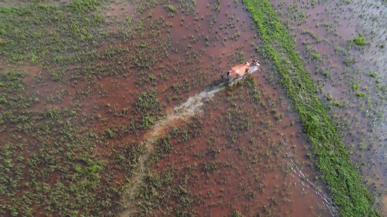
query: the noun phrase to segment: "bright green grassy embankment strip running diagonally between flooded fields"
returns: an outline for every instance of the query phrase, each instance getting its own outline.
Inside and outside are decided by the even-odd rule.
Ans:
[[[243,0],[262,39],[262,53],[281,76],[288,96],[303,124],[315,154],[320,176],[327,183],[333,202],[343,217],[382,216],[375,200],[362,185],[357,167],[335,128],[325,106],[315,95],[316,87],[303,69],[294,40],[278,19],[269,0]]]

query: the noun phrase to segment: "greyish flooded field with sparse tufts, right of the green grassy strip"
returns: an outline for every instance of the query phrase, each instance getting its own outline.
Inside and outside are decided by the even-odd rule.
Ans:
[[[273,5],[283,21],[290,21],[287,23],[295,33],[297,50],[302,57],[308,60],[313,49],[322,57],[320,62],[312,60],[307,68],[322,88],[320,97],[323,101],[329,103],[326,94],[330,94],[332,101],[347,103],[343,107],[333,107],[331,114],[339,123],[344,141],[353,151],[354,161],[360,166],[364,180],[378,193],[378,199],[385,202],[387,107],[385,92],[380,90],[386,85],[387,73],[385,2],[277,0]],[[299,24],[302,10],[306,22]],[[295,13],[297,17],[294,19]],[[302,34],[303,31],[312,31],[321,42],[309,33]],[[360,34],[368,44],[349,44]],[[355,63],[345,63],[345,58],[355,59]],[[324,73],[321,73],[322,67]],[[376,76],[370,76],[371,72]],[[360,98],[356,93],[365,95]],[[380,208],[386,214],[385,205]]]

